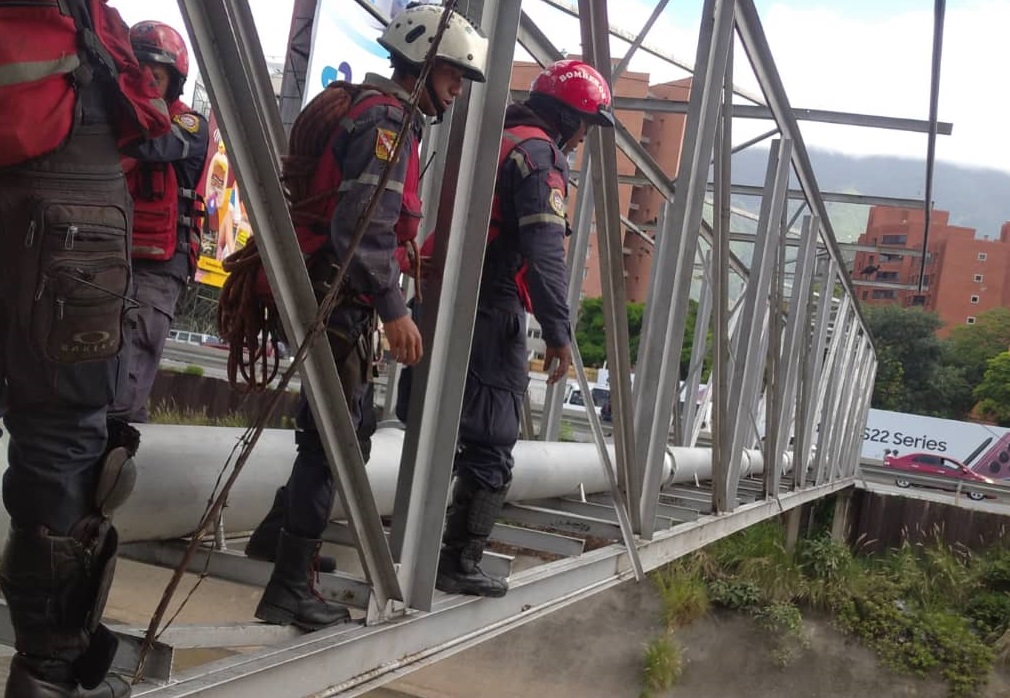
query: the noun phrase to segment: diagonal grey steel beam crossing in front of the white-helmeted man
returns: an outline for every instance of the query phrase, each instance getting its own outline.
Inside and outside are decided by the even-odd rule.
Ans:
[[[240,0],[180,0],[180,10],[247,195],[285,332],[300,346],[318,306],[281,186],[280,154],[287,149],[287,138],[251,11]],[[301,373],[376,609],[384,609],[401,597],[400,588],[328,342],[312,342]]]

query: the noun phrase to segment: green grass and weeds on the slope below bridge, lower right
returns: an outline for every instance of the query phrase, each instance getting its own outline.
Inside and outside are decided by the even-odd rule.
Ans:
[[[809,646],[803,611],[827,612],[882,665],[941,678],[951,696],[978,695],[997,662],[1010,665],[1010,547],[973,554],[934,542],[863,556],[821,534],[790,551],[783,526],[767,521],[652,579],[665,633],[646,647],[642,695],[660,688],[663,667],[676,665],[671,675],[680,676],[674,628],[710,604],[753,618],[768,632],[770,660],[778,666]]]

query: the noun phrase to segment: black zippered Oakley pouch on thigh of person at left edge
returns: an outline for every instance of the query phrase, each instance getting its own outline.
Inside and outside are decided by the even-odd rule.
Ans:
[[[115,357],[129,291],[126,211],[46,198],[36,200],[25,238],[34,265],[24,289],[32,343],[49,361],[76,364]],[[27,270],[26,270],[27,271]],[[27,285],[26,285],[27,286]]]

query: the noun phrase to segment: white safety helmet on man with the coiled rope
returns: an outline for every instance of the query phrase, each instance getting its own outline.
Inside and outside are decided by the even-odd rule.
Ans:
[[[413,5],[389,23],[379,44],[395,57],[420,68],[434,40],[443,8],[438,5]],[[464,77],[483,83],[488,63],[488,38],[459,12],[445,26],[435,56],[463,71]]]

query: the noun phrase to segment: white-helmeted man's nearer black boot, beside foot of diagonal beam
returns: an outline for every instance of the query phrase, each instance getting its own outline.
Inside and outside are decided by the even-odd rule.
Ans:
[[[306,630],[319,630],[350,618],[346,608],[326,601],[315,590],[320,544],[320,540],[300,538],[281,529],[274,574],[257,606],[257,618]]]

